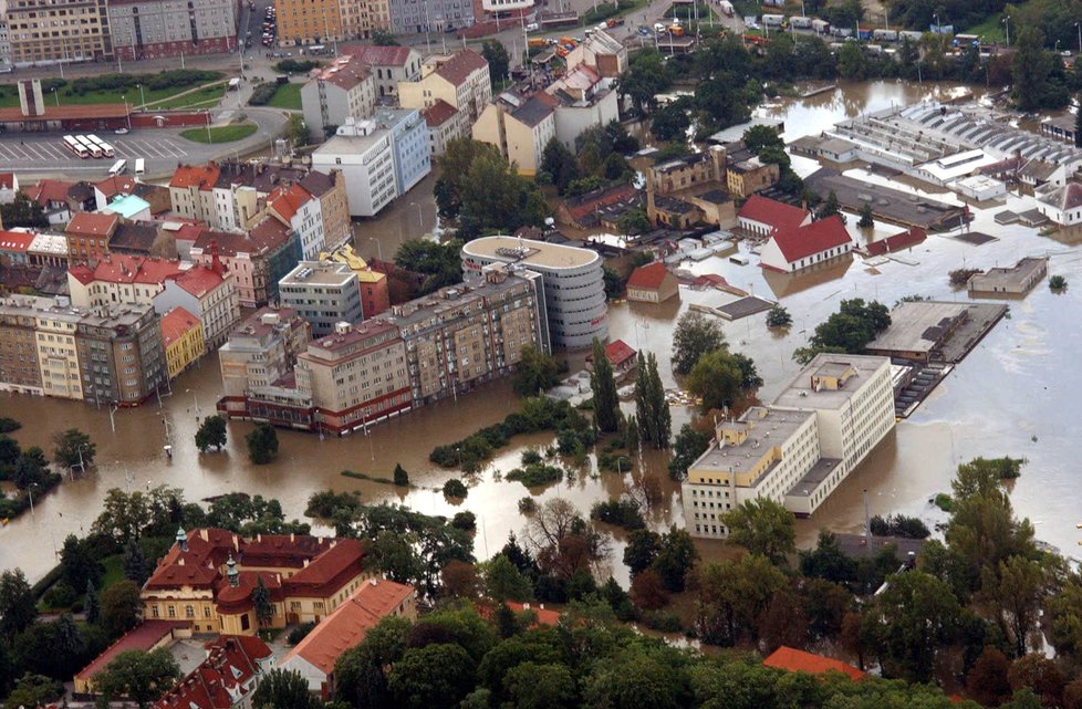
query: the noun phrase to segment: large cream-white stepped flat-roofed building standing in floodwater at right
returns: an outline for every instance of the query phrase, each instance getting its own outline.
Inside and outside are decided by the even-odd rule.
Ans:
[[[758,497],[810,517],[894,427],[888,357],[821,354],[767,407],[722,421],[682,486],[694,536]]]

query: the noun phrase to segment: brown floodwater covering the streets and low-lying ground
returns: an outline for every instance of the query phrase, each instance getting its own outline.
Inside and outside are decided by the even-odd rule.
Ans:
[[[786,118],[787,138],[819,133],[835,121],[861,111],[874,111],[892,102],[911,102],[933,95],[949,95],[953,87],[912,86],[893,82],[854,84],[834,94],[811,100],[782,101],[766,108]],[[814,164],[795,158],[798,170],[807,173]],[[847,174],[862,179],[883,181],[863,169]],[[431,202],[431,178],[379,218],[355,228],[361,252],[375,252],[368,238],[381,242],[389,258],[400,239],[431,232],[436,225]],[[909,189],[902,185],[899,188]],[[949,194],[933,194],[938,199],[957,201]],[[422,213],[418,215],[417,206]],[[764,278],[755,265],[741,267],[727,259],[711,258],[685,264],[696,273],[719,273],[730,283],[756,294],[780,300],[793,315],[793,326],[786,334],[767,330],[762,316],[753,316],[724,329],[735,350],[751,355],[766,385],[760,398],[769,400],[798,372],[792,351],[804,343],[815,324],[835,311],[846,298],[877,299],[888,306],[907,294],[936,299],[965,300],[954,291],[947,272],[970,265],[988,268],[1013,263],[1023,256],[1051,258],[1050,270],[1065,275],[1071,288],[1052,294],[1047,284],[1038,285],[1022,301],[1010,302],[1010,316],[1001,321],[977,348],[947,377],[908,420],[898,424],[884,442],[853,472],[810,520],[798,524],[800,541],[812,543],[820,526],[839,531],[857,531],[863,523],[862,490],[867,489],[872,513],[904,512],[928,522],[941,514],[928,503],[938,491],[947,490],[958,462],[976,456],[1010,455],[1029,462],[1013,488],[1015,505],[1029,517],[1040,539],[1072,553],[1075,545],[1078,512],[1076,484],[1082,476],[1082,442],[1075,432],[1079,400],[1082,397],[1082,368],[1074,353],[1082,348],[1076,326],[1082,299],[1082,252],[1021,226],[1000,227],[992,215],[1000,209],[1016,211],[1032,205],[1028,198],[1010,196],[1006,205],[975,208],[972,229],[997,237],[981,247],[969,246],[950,234],[932,236],[903,254],[905,262],[887,261],[874,268],[860,259],[828,271],[803,277]],[[855,219],[851,220],[851,223]],[[399,229],[402,236],[399,237]],[[897,231],[880,226],[876,233]],[[747,246],[741,246],[742,250]],[[662,305],[617,303],[611,309],[611,333],[637,348],[653,351],[662,363],[666,386],[675,386],[668,371],[672,330],[675,319],[693,302],[721,304],[728,296],[716,291],[680,290],[679,302]],[[581,356],[570,357],[572,364]],[[211,411],[220,394],[216,357],[184,374],[174,383],[173,396],[163,399],[162,408],[150,403],[138,409],[115,414],[115,432],[108,413],[93,406],[46,399],[0,395],[2,415],[23,421],[15,434],[23,446],[48,447],[50,436],[69,427],[91,434],[98,446],[97,466],[74,482],[65,481],[43,499],[35,500],[35,514],[23,514],[0,529],[0,569],[21,566],[31,578],[40,577],[54,563],[54,551],[63,538],[89,530],[100,511],[106,490],[146,488],[169,484],[183,488],[189,500],[200,500],[229,491],[246,491],[275,497],[290,517],[303,514],[308,497],[316,490],[360,490],[367,501],[407,504],[425,513],[452,514],[470,510],[478,515],[476,552],[479,557],[495,553],[509,532],[521,532],[527,519],[516,502],[528,493],[519,482],[500,478],[516,467],[524,448],[545,446],[551,436],[516,439],[500,451],[491,465],[468,481],[470,493],[460,504],[448,503],[438,488],[458,473],[445,471],[428,462],[435,445],[458,440],[476,428],[495,423],[516,407],[507,382],[491,384],[459,397],[457,404],[445,402],[375,426],[371,435],[343,439],[280,431],[281,455],[269,466],[251,466],[243,452],[243,435],[250,426],[229,425],[229,445],[221,453],[199,455],[193,444],[197,416]],[[198,409],[197,409],[198,407]],[[684,407],[673,409],[674,430],[695,413]],[[163,453],[168,419],[175,453]],[[389,477],[400,462],[419,486],[400,494],[388,486],[346,478],[344,469]],[[662,500],[651,511],[652,525],[683,524],[678,487],[668,482],[664,456],[651,455],[644,467],[663,479]],[[638,475],[638,473],[635,473]],[[623,494],[635,475],[597,473],[593,460],[573,478],[544,490],[535,490],[539,501],[561,497],[573,501],[584,513],[596,501]],[[622,555],[622,536],[613,530],[613,560]],[[700,544],[708,557],[724,553],[717,542]],[[618,561],[611,564],[617,580],[626,583],[626,570]]]

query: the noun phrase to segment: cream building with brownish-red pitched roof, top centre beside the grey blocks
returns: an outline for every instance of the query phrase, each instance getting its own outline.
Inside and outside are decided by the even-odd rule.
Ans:
[[[488,62],[471,49],[425,60],[420,79],[398,83],[398,103],[404,108],[425,110],[443,100],[465,112],[472,124],[492,101]]]

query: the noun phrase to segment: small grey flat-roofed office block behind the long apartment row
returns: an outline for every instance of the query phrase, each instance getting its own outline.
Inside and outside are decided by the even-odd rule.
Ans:
[[[344,263],[301,261],[278,282],[278,292],[282,305],[306,320],[316,338],[339,323],[355,325],[363,319],[357,277]]]

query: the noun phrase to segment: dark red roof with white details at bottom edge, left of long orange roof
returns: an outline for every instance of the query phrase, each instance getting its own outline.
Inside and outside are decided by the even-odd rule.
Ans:
[[[231,709],[253,691],[271,649],[258,637],[222,635],[207,643],[207,659],[166,692],[153,709]]]

